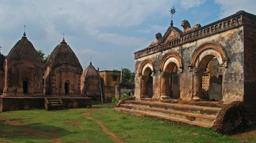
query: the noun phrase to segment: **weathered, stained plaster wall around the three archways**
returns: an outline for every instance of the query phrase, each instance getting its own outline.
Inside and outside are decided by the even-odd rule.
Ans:
[[[154,66],[154,95],[152,99],[160,98],[159,72],[162,59],[168,54],[177,53],[181,55],[181,62],[183,63],[183,71],[180,73],[180,98],[185,101],[190,101],[193,96],[193,72],[189,70],[189,66],[192,64],[191,58],[199,52],[203,52],[200,51],[200,49],[203,49],[206,45],[213,45],[217,47],[217,50],[223,52],[218,54],[220,57],[217,57],[218,59],[222,60],[220,61],[221,66],[224,66],[225,64],[224,58],[228,57],[228,66],[224,66],[225,68],[222,70],[222,101],[224,103],[230,103],[232,101],[243,101],[243,27],[230,29],[221,33],[213,33],[212,35],[200,38],[197,41],[187,42],[180,46],[171,47],[171,49],[159,51],[157,53],[135,59],[135,73],[137,75],[135,77],[135,97],[139,99],[141,95],[141,71],[139,71],[141,69],[140,67],[142,66],[143,62],[149,60]],[[209,54],[211,54],[210,50]]]

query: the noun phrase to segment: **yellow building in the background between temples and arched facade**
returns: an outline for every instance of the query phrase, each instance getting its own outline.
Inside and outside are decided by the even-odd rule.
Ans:
[[[120,83],[120,75],[120,71],[100,71],[105,101],[112,101],[112,98],[115,98],[115,84]]]

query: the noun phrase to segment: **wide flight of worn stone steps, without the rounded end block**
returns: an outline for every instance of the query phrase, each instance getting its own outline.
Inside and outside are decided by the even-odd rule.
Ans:
[[[115,110],[134,115],[167,119],[178,124],[185,123],[199,127],[213,127],[221,108],[180,103],[125,100],[119,103]]]

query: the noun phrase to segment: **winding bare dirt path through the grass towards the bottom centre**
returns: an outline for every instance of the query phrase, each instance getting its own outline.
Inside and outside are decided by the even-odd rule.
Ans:
[[[87,119],[95,120],[95,121],[101,126],[102,130],[103,130],[105,133],[107,133],[108,135],[110,135],[110,136],[113,138],[113,140],[114,140],[115,142],[117,142],[117,143],[123,142],[123,141],[121,140],[121,138],[119,138],[119,137],[118,137],[117,135],[115,135],[113,132],[109,131],[109,129],[105,127],[105,125],[102,123],[101,120],[97,120],[97,119],[94,119],[94,118],[90,117],[90,114],[92,114],[92,112],[95,112],[95,111],[98,111],[98,110],[100,110],[100,109],[92,109],[92,110],[90,110],[90,111],[88,111],[88,112],[85,112],[85,113],[82,114],[82,115],[86,116]]]

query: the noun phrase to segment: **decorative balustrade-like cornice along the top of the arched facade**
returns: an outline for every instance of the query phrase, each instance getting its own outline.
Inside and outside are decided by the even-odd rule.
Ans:
[[[142,50],[136,51],[134,53],[134,59],[144,57],[146,55],[157,53],[158,51],[163,51],[170,49],[174,46],[182,45],[187,42],[192,42],[210,36],[212,34],[228,31],[229,29],[241,27],[241,25],[251,25],[250,21],[247,18],[253,18],[252,22],[256,19],[255,15],[249,14],[245,11],[238,11],[236,14],[231,15],[227,18],[218,20],[214,23],[205,25],[204,27],[196,29],[196,31],[191,31],[184,33],[179,38],[176,38],[173,41],[152,46],[146,47]]]

